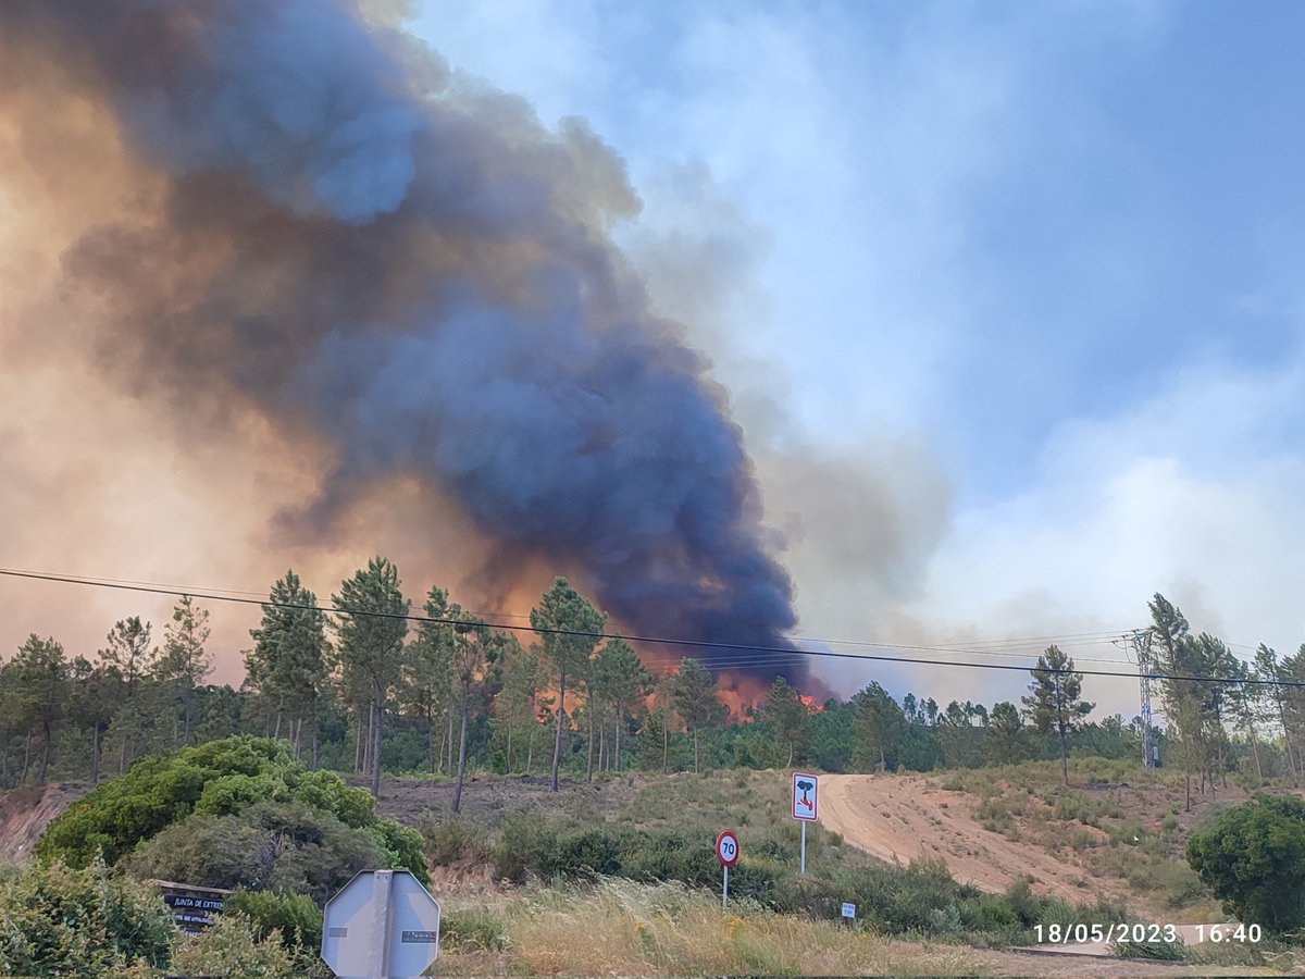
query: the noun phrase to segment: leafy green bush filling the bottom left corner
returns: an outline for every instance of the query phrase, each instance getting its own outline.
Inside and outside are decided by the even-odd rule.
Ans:
[[[0,881],[0,975],[90,979],[162,967],[176,933],[158,890],[102,863],[35,864]]]

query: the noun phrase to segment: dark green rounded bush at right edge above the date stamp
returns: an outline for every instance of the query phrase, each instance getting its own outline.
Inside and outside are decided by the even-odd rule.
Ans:
[[[1188,863],[1245,924],[1285,933],[1305,924],[1305,801],[1257,796],[1188,838]]]

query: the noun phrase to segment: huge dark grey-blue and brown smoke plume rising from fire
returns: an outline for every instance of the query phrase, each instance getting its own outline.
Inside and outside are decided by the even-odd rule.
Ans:
[[[741,433],[612,245],[638,201],[582,123],[454,82],[346,0],[4,0],[16,51],[166,176],[65,260],[103,363],[181,424],[239,398],[334,440],[317,533],[412,476],[638,632],[786,644]]]

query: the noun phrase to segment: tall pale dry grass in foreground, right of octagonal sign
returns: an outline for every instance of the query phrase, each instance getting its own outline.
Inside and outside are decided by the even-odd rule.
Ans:
[[[775,915],[677,884],[603,880],[488,899],[501,952],[444,952],[429,975],[976,975],[972,950],[887,941],[860,928]],[[453,902],[450,902],[453,903]]]

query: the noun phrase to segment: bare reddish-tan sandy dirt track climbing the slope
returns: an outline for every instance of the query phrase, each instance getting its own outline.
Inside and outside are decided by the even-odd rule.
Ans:
[[[1122,881],[1090,881],[1073,865],[1034,846],[989,833],[975,820],[979,800],[916,775],[821,775],[820,817],[826,829],[885,860],[941,858],[951,876],[984,890],[1005,890],[1022,875],[1034,890],[1067,901],[1098,892],[1124,894]]]

